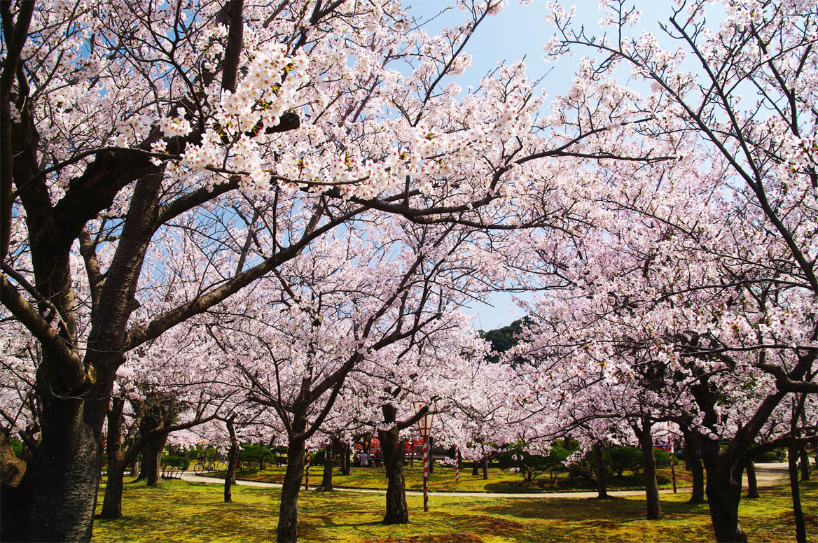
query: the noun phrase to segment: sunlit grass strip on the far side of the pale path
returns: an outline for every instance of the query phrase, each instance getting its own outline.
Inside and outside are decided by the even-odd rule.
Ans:
[[[423,490],[423,471],[420,463],[416,462],[415,468],[408,465],[404,468],[407,490]],[[321,484],[321,473],[324,467],[313,465],[310,469],[310,484]],[[263,470],[240,469],[236,471],[236,478],[249,481],[282,482],[284,480],[283,466],[272,466]],[[429,489],[441,492],[540,492],[540,491],[571,491],[571,490],[596,490],[596,482],[593,481],[570,481],[565,473],[560,475],[555,486],[551,487],[546,473],[538,480],[540,484],[526,484],[519,473],[513,473],[505,469],[489,469],[488,479],[483,480],[482,472],[474,476],[471,469],[461,469],[460,482],[455,482],[454,468],[436,466],[434,473],[429,474]],[[213,474],[218,477],[218,473]],[[224,475],[221,474],[223,478]],[[659,469],[657,473],[660,488],[672,487],[670,468]],[[341,475],[339,469],[335,469],[332,476],[333,485],[336,487],[354,488],[386,488],[386,474],[383,468],[353,468],[349,475]],[[679,487],[690,485],[690,473],[684,469],[676,469],[676,485]],[[633,477],[631,473],[624,473],[622,477],[615,475],[609,477],[609,490],[638,490],[644,488],[644,479],[639,473]]]

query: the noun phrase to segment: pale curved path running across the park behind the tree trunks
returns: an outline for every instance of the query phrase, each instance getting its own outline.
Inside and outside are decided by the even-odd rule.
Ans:
[[[758,487],[769,487],[780,482],[783,482],[789,477],[787,473],[787,463],[779,462],[774,464],[756,464],[756,480]],[[203,477],[194,475],[193,473],[182,473],[182,479],[190,482],[210,482],[223,484],[224,479]],[[258,481],[242,481],[237,480],[236,484],[244,487],[261,487],[261,488],[281,488],[280,482],[258,482]],[[747,487],[747,478],[744,477],[744,487]],[[365,494],[385,494],[385,490],[378,488],[342,488],[335,487],[336,491],[341,492],[360,492]],[[679,491],[690,491],[690,487],[680,487]],[[660,494],[671,494],[671,489],[665,488],[660,490]],[[645,494],[644,490],[614,490],[608,491],[610,496],[641,496]],[[407,496],[423,496],[422,491],[407,491]],[[502,493],[502,492],[435,492],[429,491],[429,496],[477,496],[486,498],[593,498],[596,497],[596,491],[578,491],[578,492],[518,492],[518,493]]]

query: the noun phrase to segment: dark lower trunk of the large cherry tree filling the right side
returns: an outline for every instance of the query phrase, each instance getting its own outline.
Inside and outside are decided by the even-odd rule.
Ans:
[[[721,453],[717,439],[701,438],[702,458],[707,469],[706,491],[710,507],[710,519],[716,541],[746,543],[747,534],[739,524],[741,501],[742,462],[731,464]]]

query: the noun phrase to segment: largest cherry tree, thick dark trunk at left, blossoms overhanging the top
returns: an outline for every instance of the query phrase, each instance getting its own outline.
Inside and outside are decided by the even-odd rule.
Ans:
[[[398,2],[0,7],[0,290],[42,348],[37,540],[91,537],[127,352],[367,210],[536,224],[533,207],[508,205],[543,197],[536,164],[659,158],[629,143],[640,117],[627,100],[593,125],[537,119],[522,63],[456,99],[463,47],[501,2],[461,4],[464,23],[439,36]],[[191,228],[209,275],[176,277],[178,298],[151,293],[169,255],[157,241]]]

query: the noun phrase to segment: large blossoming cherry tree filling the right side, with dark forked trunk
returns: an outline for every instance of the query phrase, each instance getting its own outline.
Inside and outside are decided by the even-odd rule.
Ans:
[[[780,428],[784,398],[818,391],[816,13],[799,2],[721,2],[726,20],[712,29],[705,4],[677,2],[663,25],[681,45],[672,51],[647,32],[628,37],[639,14],[625,2],[609,2],[613,32],[601,38],[552,7],[549,53],[598,55],[581,61],[569,97],[629,68],[650,86],[636,105],[655,121],[644,136],[671,136],[678,159],[630,179],[606,168],[615,182],[591,198],[593,227],[535,248],[559,289],[543,298],[538,330],[565,326],[557,383],[572,372],[635,377],[649,420],[683,414],[676,422],[708,472],[717,541],[746,541],[744,465],[796,432]]]

